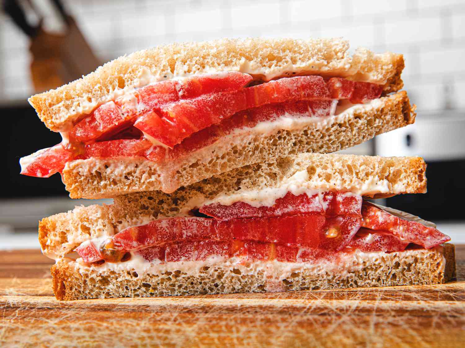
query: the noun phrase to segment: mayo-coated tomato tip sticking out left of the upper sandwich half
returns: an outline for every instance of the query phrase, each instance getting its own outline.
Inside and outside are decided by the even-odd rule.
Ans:
[[[67,150],[61,143],[52,148],[44,148],[20,159],[21,174],[48,178],[62,172],[66,162],[71,161],[73,157],[73,152]]]

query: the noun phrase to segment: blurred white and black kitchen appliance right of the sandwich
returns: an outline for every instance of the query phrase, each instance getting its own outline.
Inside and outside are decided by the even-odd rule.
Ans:
[[[419,113],[415,123],[375,138],[382,156],[422,156],[427,164],[426,194],[402,194],[386,204],[431,220],[464,220],[465,112]]]

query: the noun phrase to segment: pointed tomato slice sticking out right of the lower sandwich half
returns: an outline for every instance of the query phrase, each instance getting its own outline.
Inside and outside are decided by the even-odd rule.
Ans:
[[[401,219],[366,201],[362,205],[362,216],[362,227],[373,231],[390,232],[401,240],[421,245],[426,249],[451,240],[449,236],[434,227]]]

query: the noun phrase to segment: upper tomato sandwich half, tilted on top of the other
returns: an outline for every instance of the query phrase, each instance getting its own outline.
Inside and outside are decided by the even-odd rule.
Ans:
[[[329,153],[414,122],[404,59],[342,39],[221,39],[117,58],[29,102],[62,142],[21,173],[72,198],[172,193],[215,174]]]

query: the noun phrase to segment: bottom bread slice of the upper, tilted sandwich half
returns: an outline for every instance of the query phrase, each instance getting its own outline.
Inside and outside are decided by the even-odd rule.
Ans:
[[[414,110],[415,105],[410,105],[406,92],[402,91],[356,105],[337,116],[311,118],[308,124],[268,129],[266,133],[248,129],[227,135],[174,161],[156,163],[131,158],[70,161],[62,178],[71,198],[112,198],[149,190],[171,193],[181,186],[252,163],[270,162],[298,153],[328,153],[349,148],[413,123]]]

